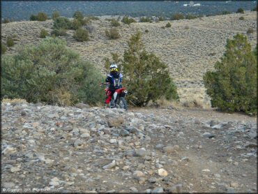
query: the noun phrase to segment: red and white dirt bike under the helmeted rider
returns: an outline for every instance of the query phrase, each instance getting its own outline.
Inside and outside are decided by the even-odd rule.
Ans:
[[[109,83],[101,83],[100,87],[102,86],[106,86],[105,88],[105,93],[109,94]],[[109,108],[121,108],[121,109],[125,109],[127,110],[127,103],[126,103],[126,95],[128,94],[128,91],[126,90],[126,88],[122,87],[119,89],[116,89],[116,91],[114,91],[114,94],[109,102],[108,107]]]

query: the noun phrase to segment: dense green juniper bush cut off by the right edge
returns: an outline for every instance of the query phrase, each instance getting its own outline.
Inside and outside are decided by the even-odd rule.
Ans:
[[[257,56],[246,36],[227,40],[225,54],[215,71],[204,75],[204,85],[212,107],[257,114]]]

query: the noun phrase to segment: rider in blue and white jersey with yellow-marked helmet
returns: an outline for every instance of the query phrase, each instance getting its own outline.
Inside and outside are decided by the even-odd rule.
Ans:
[[[109,67],[110,73],[107,74],[107,78],[105,82],[109,83],[109,90],[107,93],[107,99],[105,100],[105,106],[107,106],[112,99],[112,96],[116,89],[120,89],[122,87],[122,77],[123,75],[119,73],[119,68],[116,64],[111,64]]]

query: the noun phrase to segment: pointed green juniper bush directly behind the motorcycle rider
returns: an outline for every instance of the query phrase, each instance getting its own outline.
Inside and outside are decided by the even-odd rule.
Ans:
[[[128,50],[124,51],[121,70],[124,82],[128,83],[128,102],[137,106],[145,106],[150,100],[158,100],[162,96],[179,99],[176,85],[169,76],[167,65],[155,54],[144,49],[141,33],[137,32],[128,41]]]

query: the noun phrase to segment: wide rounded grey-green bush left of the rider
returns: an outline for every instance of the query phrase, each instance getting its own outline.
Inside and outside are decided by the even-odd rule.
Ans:
[[[1,70],[1,98],[51,105],[96,104],[105,99],[98,87],[103,75],[59,38],[45,38],[36,46],[20,47],[17,54],[4,55]]]

